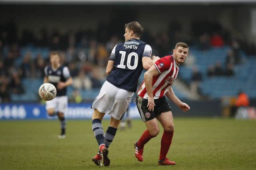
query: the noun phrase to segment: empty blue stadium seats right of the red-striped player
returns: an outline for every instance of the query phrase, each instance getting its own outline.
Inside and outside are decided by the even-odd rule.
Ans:
[[[200,92],[210,98],[221,98],[222,96],[236,96],[240,90],[245,91],[249,97],[256,98],[256,57],[246,57],[241,52],[244,64],[236,65],[234,68],[235,76],[233,77],[210,77],[206,76],[207,68],[210,64],[217,61],[225,64],[226,54],[230,47],[212,48],[209,51],[197,51],[196,48],[190,48],[190,53],[196,59],[196,66],[202,72],[203,81],[200,83]],[[180,77],[186,83],[190,83],[192,69],[183,66],[180,69]]]

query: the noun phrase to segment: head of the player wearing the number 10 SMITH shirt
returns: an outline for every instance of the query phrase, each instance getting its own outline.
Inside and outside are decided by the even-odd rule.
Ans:
[[[125,33],[124,33],[125,41],[129,41],[132,38],[140,39],[140,36],[143,33],[143,28],[140,25],[140,23],[137,21],[126,23],[124,25],[124,29],[125,29]]]

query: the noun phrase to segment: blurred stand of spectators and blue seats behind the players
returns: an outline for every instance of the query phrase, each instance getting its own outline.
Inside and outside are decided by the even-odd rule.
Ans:
[[[74,78],[68,90],[70,100],[92,101],[106,80],[105,68],[112,48],[124,41],[124,23],[136,20],[136,15],[128,16],[112,15],[92,28],[64,31],[48,25],[21,28],[13,18],[1,22],[0,101],[38,101],[37,90],[42,84],[44,67],[49,64],[50,51],[59,52],[62,64],[68,66]],[[172,54],[177,42],[190,46],[189,57],[180,68],[178,85],[174,83],[178,97],[214,99],[244,91],[250,98],[256,98],[254,42],[248,41],[236,27],[228,29],[217,20],[194,20],[186,26],[178,17],[166,22],[167,27],[156,31],[141,22],[141,39],[151,45],[153,55],[160,57]]]

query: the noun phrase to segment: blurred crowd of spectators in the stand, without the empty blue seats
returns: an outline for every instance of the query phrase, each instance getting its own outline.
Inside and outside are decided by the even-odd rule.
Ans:
[[[119,25],[122,27],[123,25]],[[0,98],[2,102],[10,102],[10,94],[24,94],[22,85],[24,78],[43,78],[44,67],[49,64],[49,58],[42,53],[32,57],[31,51],[22,56],[22,47],[47,48],[49,51],[59,51],[61,61],[68,66],[74,78],[73,87],[77,90],[100,88],[106,78],[105,67],[109,54],[119,42],[124,41],[120,32],[116,34],[112,23],[100,23],[95,30],[70,30],[62,33],[42,28],[35,34],[32,30],[18,30],[15,23],[0,25]],[[177,21],[170,22],[166,31],[150,33],[145,30],[142,39],[152,46],[153,54],[163,57],[172,53],[172,48],[179,41],[185,41],[198,50],[208,50],[211,47],[230,45],[232,49],[227,54],[226,68],[220,63],[210,66],[208,76],[233,76],[234,65],[241,64],[240,50],[248,55],[255,55],[254,45],[245,45],[243,40],[232,39],[230,33],[218,23],[195,22],[191,26],[193,35],[184,37],[182,26]],[[247,48],[244,48],[247,47]],[[15,61],[22,60],[20,64]],[[202,75],[194,69],[192,80],[200,82]],[[77,91],[76,91],[77,92]]]

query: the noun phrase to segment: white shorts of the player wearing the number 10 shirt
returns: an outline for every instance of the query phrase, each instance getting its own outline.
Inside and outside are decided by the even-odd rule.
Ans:
[[[107,113],[114,119],[121,120],[129,106],[133,93],[117,88],[110,82],[105,81],[91,108],[97,109],[101,113]]]

